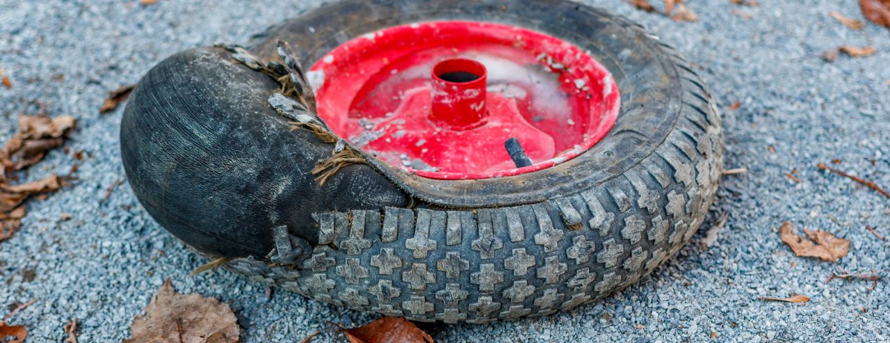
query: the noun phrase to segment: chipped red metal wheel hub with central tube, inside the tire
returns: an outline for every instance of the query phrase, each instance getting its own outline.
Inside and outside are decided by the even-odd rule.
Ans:
[[[307,76],[320,117],[337,135],[437,179],[552,167],[599,142],[620,107],[609,71],[578,47],[473,21],[368,33],[325,55]],[[520,152],[530,165],[517,160]]]

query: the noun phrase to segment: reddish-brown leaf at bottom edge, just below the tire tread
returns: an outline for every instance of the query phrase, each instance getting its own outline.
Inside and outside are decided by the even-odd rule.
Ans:
[[[381,317],[344,333],[350,343],[433,343],[430,335],[401,317]]]

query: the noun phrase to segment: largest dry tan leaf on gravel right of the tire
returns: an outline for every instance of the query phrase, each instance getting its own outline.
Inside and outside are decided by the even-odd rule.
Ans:
[[[804,229],[804,233],[809,237],[807,240],[793,231],[794,226],[785,222],[779,228],[779,235],[781,241],[788,244],[791,251],[794,251],[798,257],[818,257],[823,261],[834,262],[850,252],[850,240],[837,238],[831,233],[821,230]]]

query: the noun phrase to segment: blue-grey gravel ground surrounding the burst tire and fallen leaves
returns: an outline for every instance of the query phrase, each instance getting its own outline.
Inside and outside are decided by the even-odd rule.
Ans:
[[[691,244],[651,277],[599,303],[553,317],[486,325],[425,325],[441,341],[888,341],[886,281],[826,282],[836,265],[795,257],[779,240],[783,221],[821,228],[853,241],[837,267],[890,274],[890,200],[817,169],[838,168],[890,187],[890,31],[870,24],[846,29],[828,12],[861,19],[857,2],[762,1],[759,7],[692,0],[697,23],[635,10],[621,0],[596,2],[643,23],[694,63],[724,114],[726,176]],[[245,342],[340,339],[331,323],[367,323],[374,316],[327,306],[229,272],[189,277],[206,262],[185,249],[142,209],[125,180],[117,131],[121,109],[98,114],[105,93],[136,82],[166,56],[251,34],[318,5],[315,1],[135,0],[0,2],[0,68],[12,89],[0,89],[0,139],[19,113],[38,103],[73,115],[67,146],[88,156],[70,187],[28,203],[12,240],[0,243],[0,314],[16,301],[39,300],[12,323],[28,341],[61,341],[71,318],[84,342],[119,341],[166,278],[178,290],[231,304]],[[246,6],[249,6],[247,8]],[[834,63],[821,52],[872,45],[878,54]],[[731,110],[739,101],[738,110]],[[76,163],[61,150],[32,167],[34,179],[67,174]],[[800,183],[784,174],[797,170]],[[67,212],[73,218],[61,222]],[[720,212],[728,223],[704,249],[704,231]],[[806,304],[758,296],[812,298]]]

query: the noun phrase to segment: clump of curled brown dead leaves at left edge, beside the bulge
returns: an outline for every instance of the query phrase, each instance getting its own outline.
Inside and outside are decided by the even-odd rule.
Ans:
[[[0,241],[19,231],[21,218],[26,215],[22,204],[28,197],[54,192],[62,185],[61,177],[55,174],[26,184],[10,184],[12,173],[34,165],[46,151],[61,146],[74,126],[75,119],[69,116],[19,117],[19,130],[0,148]]]

